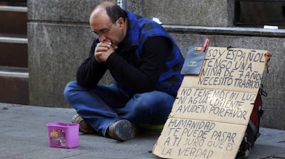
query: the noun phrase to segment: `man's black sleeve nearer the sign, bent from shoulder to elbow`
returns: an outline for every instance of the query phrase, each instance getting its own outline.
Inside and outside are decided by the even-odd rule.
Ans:
[[[149,92],[158,84],[167,57],[171,56],[171,47],[172,42],[168,38],[156,36],[147,39],[142,45],[139,66],[130,64],[117,53],[109,56],[106,65],[123,88],[131,90],[132,93]]]

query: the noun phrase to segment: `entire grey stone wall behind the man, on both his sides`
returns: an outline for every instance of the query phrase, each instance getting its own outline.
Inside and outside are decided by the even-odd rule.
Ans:
[[[98,2],[28,0],[31,105],[70,107],[63,89],[75,79],[76,68],[89,53],[94,38],[89,32],[89,14]],[[284,29],[234,27],[231,0],[125,0],[125,7],[149,18],[159,18],[184,55],[189,46],[202,45],[205,38],[210,38],[210,46],[270,51],[270,73],[264,73],[262,79],[268,93],[268,97],[263,97],[262,126],[285,130]],[[101,82],[109,81],[108,74]]]

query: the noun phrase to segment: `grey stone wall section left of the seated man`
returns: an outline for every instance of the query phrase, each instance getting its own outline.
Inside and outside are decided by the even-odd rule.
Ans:
[[[28,1],[30,104],[70,107],[63,97],[67,82],[87,57],[94,34],[89,14],[99,1]]]

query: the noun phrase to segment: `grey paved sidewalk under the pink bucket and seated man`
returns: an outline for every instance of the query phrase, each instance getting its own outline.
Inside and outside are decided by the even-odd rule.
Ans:
[[[0,103],[0,158],[157,158],[151,154],[159,132],[144,132],[127,142],[80,134],[74,149],[49,147],[47,123],[70,122],[72,108],[46,108]],[[285,131],[261,128],[249,158],[285,158]]]

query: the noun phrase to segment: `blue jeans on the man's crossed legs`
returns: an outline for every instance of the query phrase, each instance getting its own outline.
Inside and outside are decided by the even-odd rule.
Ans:
[[[130,96],[116,84],[98,84],[91,89],[76,81],[67,84],[64,95],[76,112],[104,136],[109,125],[120,119],[136,124],[164,124],[175,100],[157,90]]]

